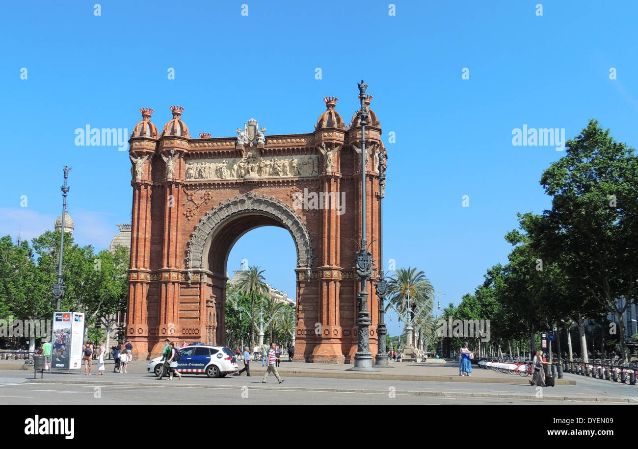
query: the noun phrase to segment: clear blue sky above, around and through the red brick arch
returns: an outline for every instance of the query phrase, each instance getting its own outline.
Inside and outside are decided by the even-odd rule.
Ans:
[[[250,117],[267,134],[311,132],[324,96],[338,96],[350,121],[364,78],[389,153],[386,259],[425,271],[445,305],[507,260],[503,236],[517,212],[549,206],[538,180],[561,152],[512,146],[512,129],[564,128],[573,138],[598,118],[638,144],[635,1],[396,1],[395,16],[389,1],[248,1],[242,16],[246,1],[103,1],[100,16],[96,2],[3,2],[0,233],[52,227],[63,164],[73,166],[78,243],[105,248],[115,224],[130,221],[128,153],[75,146],[77,128],[131,132],[140,106],[154,108],[161,128],[180,104],[193,136],[233,136]],[[285,231],[249,232],[229,270],[244,258],[294,296]]]

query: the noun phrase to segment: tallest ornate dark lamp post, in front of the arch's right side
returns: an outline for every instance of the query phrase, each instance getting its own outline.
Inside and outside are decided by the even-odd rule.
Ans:
[[[361,284],[357,293],[359,310],[357,311],[357,352],[355,353],[355,366],[350,371],[377,371],[372,367],[372,353],[370,352],[369,327],[372,324],[370,312],[367,311],[367,278],[372,275],[372,254],[367,252],[366,239],[366,125],[368,113],[364,100],[366,99],[367,84],[361,80],[359,86],[359,100],[361,109],[357,116],[361,123],[361,246],[355,259],[357,276]]]

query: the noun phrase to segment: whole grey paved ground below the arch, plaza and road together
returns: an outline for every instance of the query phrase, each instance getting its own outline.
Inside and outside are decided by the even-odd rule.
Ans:
[[[119,374],[109,361],[104,376],[75,371],[40,379],[38,373],[36,380],[33,371],[2,369],[0,404],[638,404],[638,386],[565,374],[556,387],[537,389],[527,378],[483,369],[471,378],[454,376],[455,364],[443,361],[393,363],[379,373],[282,362],[281,385],[272,376],[261,383],[260,362],[249,378],[184,375],[172,381],[156,380],[146,366],[133,362],[127,374]]]

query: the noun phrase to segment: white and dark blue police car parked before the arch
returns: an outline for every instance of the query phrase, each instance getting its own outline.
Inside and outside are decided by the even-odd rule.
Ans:
[[[237,359],[228,348],[223,346],[191,345],[179,348],[181,357],[177,362],[177,371],[181,374],[206,374],[209,377],[225,377],[237,373]],[[149,362],[146,370],[159,376],[162,366],[161,357]]]

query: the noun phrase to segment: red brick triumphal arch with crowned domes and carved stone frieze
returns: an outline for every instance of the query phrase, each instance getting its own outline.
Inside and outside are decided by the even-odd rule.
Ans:
[[[159,132],[152,110],[142,108],[129,141],[133,220],[126,329],[140,357],[159,354],[165,338],[225,345],[228,253],[246,232],[272,225],[288,230],[297,250],[295,359],[353,359],[361,126],[353,115],[346,127],[335,97],[324,101],[313,132],[267,136],[251,118],[232,138],[205,132],[191,138],[179,106],[170,108],[173,118]],[[384,187],[378,165],[385,164],[386,152],[373,111],[365,130],[367,241],[378,260]],[[375,267],[373,280],[377,273]],[[370,350],[376,354],[378,301],[370,283],[368,294]]]

